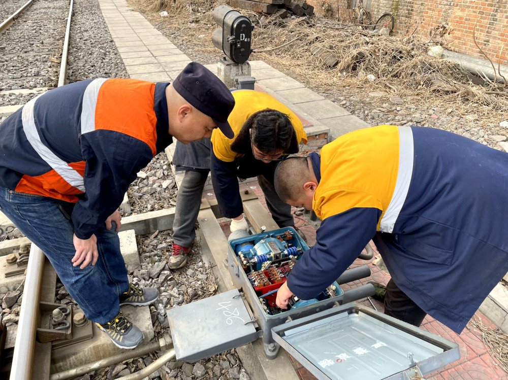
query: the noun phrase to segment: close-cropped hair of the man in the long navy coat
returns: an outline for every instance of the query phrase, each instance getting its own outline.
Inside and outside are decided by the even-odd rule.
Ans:
[[[279,198],[288,202],[300,198],[303,185],[310,179],[307,157],[289,157],[277,165],[273,183]]]

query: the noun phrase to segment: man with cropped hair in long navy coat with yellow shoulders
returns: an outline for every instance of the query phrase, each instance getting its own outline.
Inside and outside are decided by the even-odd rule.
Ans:
[[[275,189],[322,219],[277,294],[311,299],[370,239],[385,260],[386,314],[460,333],[508,271],[508,153],[451,132],[382,125],[289,158]]]

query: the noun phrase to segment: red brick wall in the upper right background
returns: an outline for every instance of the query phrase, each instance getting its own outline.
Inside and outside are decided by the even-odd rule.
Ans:
[[[352,21],[351,1],[324,0],[333,9],[333,18],[341,21]],[[359,0],[360,1],[360,0]],[[308,0],[319,12],[322,0]],[[370,10],[374,22],[384,13],[395,17],[395,32],[415,34],[429,41],[432,28],[446,24],[454,29],[446,36],[448,45],[459,53],[466,53],[484,58],[474,45],[473,26],[476,27],[478,45],[494,62],[508,64],[508,1],[507,0],[363,0]],[[438,35],[434,41],[439,41]],[[503,47],[501,51],[501,48]]]

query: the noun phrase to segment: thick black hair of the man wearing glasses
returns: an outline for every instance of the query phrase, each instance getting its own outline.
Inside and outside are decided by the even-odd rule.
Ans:
[[[265,154],[286,152],[295,134],[289,115],[270,108],[253,113],[244,125],[250,129],[252,144]]]

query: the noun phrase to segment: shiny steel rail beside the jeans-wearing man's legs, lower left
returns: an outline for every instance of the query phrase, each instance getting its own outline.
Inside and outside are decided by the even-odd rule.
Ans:
[[[44,259],[44,253],[32,243],[26,269],[10,380],[31,380],[32,378]]]

